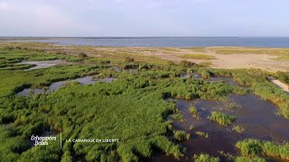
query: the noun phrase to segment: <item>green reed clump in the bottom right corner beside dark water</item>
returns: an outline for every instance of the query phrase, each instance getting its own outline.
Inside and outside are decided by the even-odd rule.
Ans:
[[[271,141],[261,141],[257,139],[245,139],[238,141],[236,147],[240,149],[244,157],[278,157],[289,160],[289,144],[276,144]]]

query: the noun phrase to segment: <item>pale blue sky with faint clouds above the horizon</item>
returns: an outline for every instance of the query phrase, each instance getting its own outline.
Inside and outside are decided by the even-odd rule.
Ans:
[[[288,0],[0,0],[0,36],[289,36]]]

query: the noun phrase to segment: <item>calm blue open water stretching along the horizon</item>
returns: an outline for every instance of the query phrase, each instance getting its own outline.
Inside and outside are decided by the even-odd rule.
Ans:
[[[61,45],[113,47],[208,47],[243,46],[289,48],[289,37],[154,37],[154,38],[51,38],[41,41]]]

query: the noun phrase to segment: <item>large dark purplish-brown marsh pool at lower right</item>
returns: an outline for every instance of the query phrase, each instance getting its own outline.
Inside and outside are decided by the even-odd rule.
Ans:
[[[289,121],[275,114],[277,109],[275,104],[261,100],[254,94],[231,94],[228,99],[230,102],[238,103],[238,108],[231,110],[222,109],[228,103],[217,101],[174,99],[186,121],[174,121],[173,128],[191,133],[191,141],[182,143],[187,148],[187,152],[181,158],[181,161],[192,160],[193,154],[199,153],[208,153],[212,156],[221,157],[219,155],[220,150],[236,155],[238,154],[238,150],[234,145],[241,139],[253,138],[276,142],[289,141],[289,131],[287,130],[289,128]],[[191,105],[194,105],[198,109],[200,120],[192,118],[191,113],[188,112]],[[228,127],[219,126],[218,123],[207,119],[212,111],[221,111],[238,116],[238,120]],[[191,124],[194,126],[193,131],[190,130]],[[237,133],[233,131],[232,128],[235,125],[244,126],[246,128],[245,132]],[[196,131],[208,132],[210,138],[205,139],[197,136],[194,133]],[[173,157],[158,155],[149,161],[175,160]]]

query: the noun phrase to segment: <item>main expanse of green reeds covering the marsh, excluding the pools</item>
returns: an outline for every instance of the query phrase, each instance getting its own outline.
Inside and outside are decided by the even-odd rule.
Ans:
[[[253,92],[278,105],[280,113],[289,118],[288,95],[271,85],[266,80],[267,74],[259,70],[211,69],[190,61],[175,64],[133,52],[102,48],[73,47],[75,51],[69,55],[67,51],[56,49],[61,47],[50,49],[41,43],[29,43],[25,45],[27,47],[12,45],[14,43],[8,43],[5,48],[0,46],[0,161],[137,161],[151,157],[156,150],[182,157],[179,144],[189,140],[190,134],[173,130],[172,121],[167,121],[170,115],[173,120],[184,121],[169,98],[227,101],[229,94]],[[86,49],[89,56],[80,56],[82,49]],[[96,51],[99,56],[90,58]],[[34,65],[18,64],[26,60],[53,59],[78,63],[28,71],[26,69]],[[129,72],[131,68],[135,69],[132,73]],[[181,74],[186,72],[199,73],[204,79],[182,78]],[[205,80],[213,75],[232,76],[250,89]],[[17,95],[25,88],[47,90],[54,82],[80,76],[117,80],[93,85],[67,82],[49,94]],[[283,74],[279,76],[281,78]],[[197,114],[193,106],[189,111],[192,115]],[[210,120],[229,125],[236,117],[212,112]],[[192,125],[190,130],[193,130]],[[52,131],[57,141],[51,141],[48,146],[33,147],[31,136],[43,135],[47,131]],[[197,131],[196,134],[209,138],[206,132]],[[65,139],[88,138],[119,139],[119,142],[65,142]],[[265,152],[268,156],[287,159],[287,144],[260,143],[261,149],[256,149],[256,156]],[[273,149],[268,151],[270,147],[276,147],[277,153]],[[251,155],[252,151],[249,152]],[[256,158],[249,155],[242,154],[238,158]],[[210,157],[200,155],[197,159]],[[216,160],[215,157],[211,159]]]

